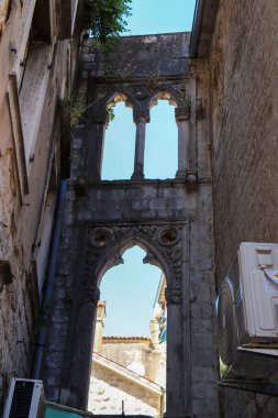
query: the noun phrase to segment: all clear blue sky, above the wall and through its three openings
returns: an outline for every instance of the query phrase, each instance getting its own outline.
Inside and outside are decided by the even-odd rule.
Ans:
[[[126,35],[190,31],[196,0],[133,0]],[[173,178],[177,170],[177,127],[174,107],[158,101],[146,129],[145,177]],[[105,134],[102,178],[130,178],[133,173],[135,125],[132,109],[119,103]],[[124,264],[103,276],[101,299],[107,300],[105,336],[148,336],[160,271],[142,260],[135,246]]]

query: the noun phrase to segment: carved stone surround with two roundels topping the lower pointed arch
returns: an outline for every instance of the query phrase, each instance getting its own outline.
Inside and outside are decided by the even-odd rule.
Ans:
[[[162,268],[165,266],[169,272],[171,285],[178,285],[181,280],[181,224],[89,227],[84,286],[90,287],[92,277],[98,279],[96,273],[103,263],[109,268],[112,264],[121,263],[118,257],[119,251],[130,241],[134,244],[142,242],[147,252],[144,263],[155,264]],[[110,258],[108,254],[111,254]],[[116,263],[115,257],[119,258]]]

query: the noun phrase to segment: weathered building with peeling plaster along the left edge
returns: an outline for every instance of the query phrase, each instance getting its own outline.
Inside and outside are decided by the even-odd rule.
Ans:
[[[57,101],[74,79],[77,7],[0,1],[1,400],[11,376],[30,376],[35,351],[57,193],[69,172]]]

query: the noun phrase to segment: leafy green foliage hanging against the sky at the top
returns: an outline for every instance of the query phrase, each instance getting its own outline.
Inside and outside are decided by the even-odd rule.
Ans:
[[[85,0],[85,26],[102,46],[126,31],[125,16],[131,14],[132,0]]]

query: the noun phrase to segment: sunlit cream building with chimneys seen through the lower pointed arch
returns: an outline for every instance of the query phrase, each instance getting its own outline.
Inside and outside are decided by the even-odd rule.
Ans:
[[[165,282],[165,280],[164,280]],[[98,302],[88,409],[94,415],[160,416],[165,411],[166,341],[158,309],[144,337],[103,337],[105,302]]]

